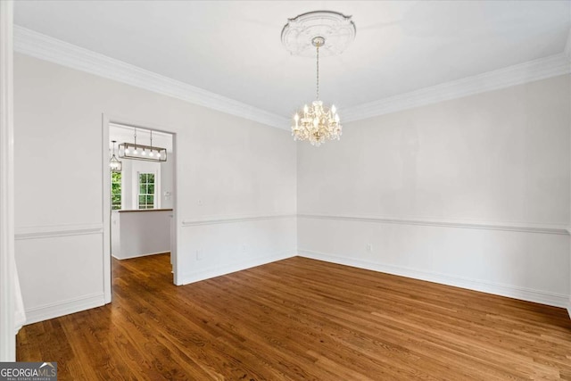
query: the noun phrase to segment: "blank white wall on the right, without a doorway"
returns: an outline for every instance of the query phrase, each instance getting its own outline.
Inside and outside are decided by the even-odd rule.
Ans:
[[[298,145],[302,255],[564,306],[569,76]]]

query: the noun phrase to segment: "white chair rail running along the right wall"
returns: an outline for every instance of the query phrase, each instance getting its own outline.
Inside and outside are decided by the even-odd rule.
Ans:
[[[423,225],[431,227],[443,228],[473,228],[487,230],[507,230],[524,233],[538,234],[557,234],[568,236],[566,225],[547,225],[533,223],[518,222],[492,222],[492,221],[464,221],[454,219],[414,219],[414,218],[398,218],[398,217],[374,217],[374,216],[335,216],[324,214],[298,214],[302,219],[332,219],[343,221],[357,222],[373,222],[385,224],[401,224],[401,225]]]

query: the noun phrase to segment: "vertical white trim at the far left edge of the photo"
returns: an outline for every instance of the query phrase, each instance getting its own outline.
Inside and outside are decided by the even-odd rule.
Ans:
[[[13,2],[0,2],[0,361],[16,360],[14,260]]]

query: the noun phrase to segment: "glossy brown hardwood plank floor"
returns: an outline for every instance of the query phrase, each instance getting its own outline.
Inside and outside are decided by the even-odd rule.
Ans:
[[[292,258],[173,286],[113,261],[113,302],[32,324],[18,360],[60,380],[571,380],[567,311]]]

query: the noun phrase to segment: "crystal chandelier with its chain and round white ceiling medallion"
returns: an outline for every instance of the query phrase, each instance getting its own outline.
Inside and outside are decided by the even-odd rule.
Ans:
[[[315,46],[317,57],[315,101],[295,112],[294,140],[307,140],[319,146],[327,140],[340,139],[343,126],[335,104],[329,107],[319,100],[319,50],[324,48],[326,54],[340,54],[352,42],[355,33],[351,16],[331,11],[303,13],[290,19],[282,30],[282,43],[291,54],[307,55],[311,46]],[[332,44],[326,46],[326,37]]]

